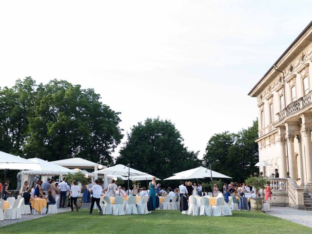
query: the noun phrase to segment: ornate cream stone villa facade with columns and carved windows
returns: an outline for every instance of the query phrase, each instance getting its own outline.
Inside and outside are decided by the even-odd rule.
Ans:
[[[312,189],[312,22],[248,94],[257,98],[259,160],[265,176],[287,172]]]

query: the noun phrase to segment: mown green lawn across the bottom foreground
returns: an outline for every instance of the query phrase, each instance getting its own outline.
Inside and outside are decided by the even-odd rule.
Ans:
[[[154,211],[149,215],[98,215],[94,210],[65,212],[0,228],[0,234],[312,234],[312,229],[258,212],[233,212],[233,216],[181,215]]]

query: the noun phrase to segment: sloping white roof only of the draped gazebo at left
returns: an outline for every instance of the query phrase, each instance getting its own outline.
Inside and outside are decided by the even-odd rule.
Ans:
[[[42,160],[40,158],[34,157],[27,159],[33,163],[39,163],[42,170],[29,170],[29,171],[22,171],[22,174],[27,175],[65,175],[69,172],[73,173],[72,170],[61,167],[57,164],[54,164],[52,162],[48,162],[45,160]]]

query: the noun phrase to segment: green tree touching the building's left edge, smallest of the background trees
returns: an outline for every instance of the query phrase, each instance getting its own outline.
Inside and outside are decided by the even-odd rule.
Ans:
[[[243,182],[258,169],[254,164],[258,161],[258,121],[248,129],[237,134],[224,132],[210,138],[203,161],[206,166],[212,165],[213,170]]]

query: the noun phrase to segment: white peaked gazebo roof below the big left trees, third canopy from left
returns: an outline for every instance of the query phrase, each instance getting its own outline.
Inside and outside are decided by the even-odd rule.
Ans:
[[[57,161],[52,161],[52,163],[58,164],[59,166],[70,168],[70,169],[94,169],[94,171],[98,171],[98,169],[106,168],[105,166],[88,161],[86,159],[80,158],[80,157],[72,157]],[[94,179],[97,179],[98,175],[95,174]]]

